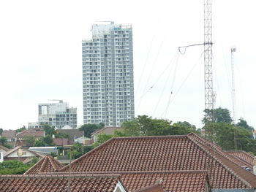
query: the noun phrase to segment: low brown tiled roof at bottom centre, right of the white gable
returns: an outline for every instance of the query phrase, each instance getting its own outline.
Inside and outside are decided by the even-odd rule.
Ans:
[[[207,173],[193,172],[134,172],[121,174],[129,191],[206,191]],[[158,183],[158,184],[157,184]],[[161,183],[161,184],[159,184]],[[157,185],[156,185],[157,184]]]

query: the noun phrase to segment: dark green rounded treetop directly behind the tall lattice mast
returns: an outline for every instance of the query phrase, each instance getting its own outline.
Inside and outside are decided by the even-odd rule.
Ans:
[[[223,109],[222,107],[216,108],[213,110],[214,111],[214,117],[212,122],[214,123],[232,123],[233,120],[230,116],[230,110],[227,109]],[[202,122],[204,125],[206,125],[206,123],[209,123],[209,117],[211,116],[212,110],[204,110],[204,112],[206,113]]]

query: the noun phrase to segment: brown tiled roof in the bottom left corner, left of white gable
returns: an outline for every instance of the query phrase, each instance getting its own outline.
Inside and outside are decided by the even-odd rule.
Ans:
[[[1,175],[0,191],[34,192],[67,191],[68,174],[56,175]],[[71,175],[70,191],[111,192],[118,183],[118,175]]]

